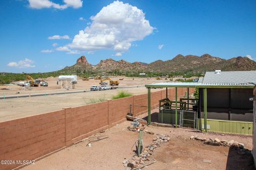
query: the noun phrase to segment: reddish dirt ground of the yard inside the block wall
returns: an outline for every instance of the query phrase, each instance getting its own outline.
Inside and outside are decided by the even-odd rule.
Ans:
[[[96,134],[109,138],[94,142],[91,147],[86,147],[88,141],[85,140],[22,169],[125,169],[122,162],[134,155],[135,148],[132,146],[139,135],[138,132],[126,130],[130,123],[126,121],[104,133]],[[239,155],[237,150],[229,147],[208,146],[201,141],[189,139],[191,135],[198,135],[235,140],[244,143],[245,148],[251,150],[251,136],[201,133],[190,129],[156,126],[147,126],[145,130],[168,134],[171,140],[155,149],[153,156],[157,162],[143,169],[254,169],[249,152]],[[155,135],[144,134],[143,146],[149,145],[153,137]]]

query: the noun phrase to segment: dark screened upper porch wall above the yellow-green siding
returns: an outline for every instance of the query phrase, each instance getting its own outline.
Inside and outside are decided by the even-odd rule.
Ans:
[[[201,118],[203,112],[203,89],[201,90]],[[252,89],[207,89],[207,118],[230,121],[253,120],[253,102],[249,100]],[[230,112],[230,114],[229,114]]]

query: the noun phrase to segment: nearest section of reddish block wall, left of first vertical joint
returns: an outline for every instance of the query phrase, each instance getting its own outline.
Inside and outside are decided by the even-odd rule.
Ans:
[[[65,112],[0,123],[0,160],[34,160],[65,147]],[[0,165],[12,169],[17,164]]]

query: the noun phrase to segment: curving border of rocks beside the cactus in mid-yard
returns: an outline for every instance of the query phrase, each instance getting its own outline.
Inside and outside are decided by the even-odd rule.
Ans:
[[[142,151],[139,157],[137,155],[134,155],[130,160],[124,159],[123,165],[124,167],[126,167],[125,170],[131,170],[134,168],[140,169],[148,164],[153,163],[155,160],[151,155],[153,155],[154,150],[157,147],[160,147],[161,144],[169,141],[170,141],[169,135],[163,135],[163,134],[157,135],[152,139],[152,143],[145,147],[145,149]]]

